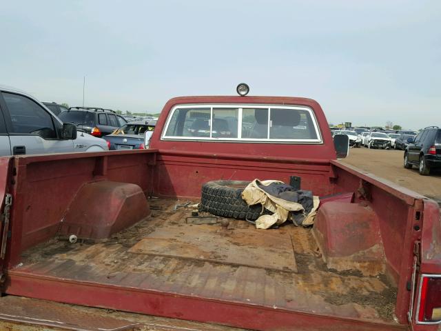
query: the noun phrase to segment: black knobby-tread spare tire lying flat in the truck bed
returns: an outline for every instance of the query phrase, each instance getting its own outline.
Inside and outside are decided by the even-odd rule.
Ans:
[[[263,212],[263,206],[247,205],[242,192],[249,181],[209,181],[202,185],[201,211],[220,217],[255,221]],[[265,210],[266,211],[266,210]]]

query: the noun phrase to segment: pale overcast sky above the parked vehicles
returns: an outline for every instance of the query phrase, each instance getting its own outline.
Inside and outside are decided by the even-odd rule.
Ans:
[[[441,1],[1,1],[0,83],[159,112],[171,97],[316,99],[329,123],[439,125]]]

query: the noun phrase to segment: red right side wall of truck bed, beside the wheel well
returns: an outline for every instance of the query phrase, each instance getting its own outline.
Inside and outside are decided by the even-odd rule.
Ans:
[[[411,281],[413,269],[413,243],[421,236],[424,197],[371,174],[367,177],[360,170],[332,163],[335,192],[356,192],[354,202],[365,201],[377,214],[388,276],[398,287],[396,315],[405,323],[410,295],[407,282]]]

